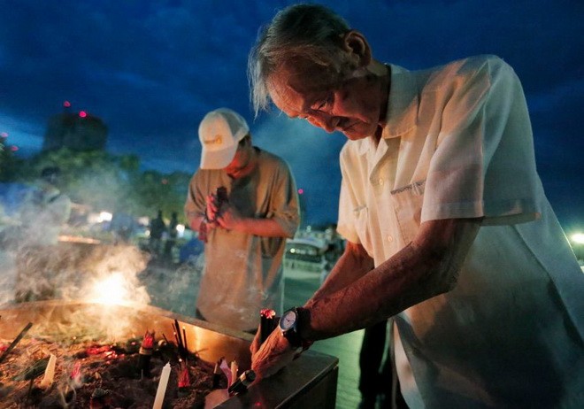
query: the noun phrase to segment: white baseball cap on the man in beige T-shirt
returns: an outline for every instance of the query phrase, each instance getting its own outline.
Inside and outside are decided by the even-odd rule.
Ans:
[[[204,116],[199,125],[201,169],[223,169],[233,160],[237,144],[250,133],[243,117],[228,108],[219,108]]]

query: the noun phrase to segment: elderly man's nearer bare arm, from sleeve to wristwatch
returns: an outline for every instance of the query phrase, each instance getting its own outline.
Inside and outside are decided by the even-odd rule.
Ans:
[[[301,335],[318,340],[365,328],[454,288],[480,220],[427,223],[426,232],[356,282],[311,298]]]

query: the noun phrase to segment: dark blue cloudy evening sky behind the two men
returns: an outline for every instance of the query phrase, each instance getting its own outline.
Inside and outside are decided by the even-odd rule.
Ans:
[[[108,150],[192,173],[196,127],[227,106],[255,143],[286,158],[312,222],[334,221],[344,136],[277,112],[253,120],[247,54],[257,29],[289,1],[0,0],[0,132],[40,149],[63,101],[101,117]],[[496,54],[526,90],[537,163],[569,232],[584,228],[584,4],[580,0],[327,0],[366,35],[373,56],[409,69]]]

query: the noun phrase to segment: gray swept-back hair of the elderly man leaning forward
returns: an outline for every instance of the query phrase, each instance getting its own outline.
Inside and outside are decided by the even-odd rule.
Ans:
[[[248,58],[250,99],[256,116],[268,109],[268,81],[282,64],[304,59],[340,71],[342,35],[349,31],[349,24],[323,5],[295,4],[278,12],[260,30]]]

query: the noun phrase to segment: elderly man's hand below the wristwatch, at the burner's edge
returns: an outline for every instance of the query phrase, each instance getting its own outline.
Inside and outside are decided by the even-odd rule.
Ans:
[[[256,337],[258,337],[257,334]],[[281,368],[292,362],[295,356],[296,349],[290,346],[288,340],[282,336],[281,331],[273,331],[265,343],[262,343],[259,351],[251,357],[251,369],[256,373],[255,382],[276,374]]]

